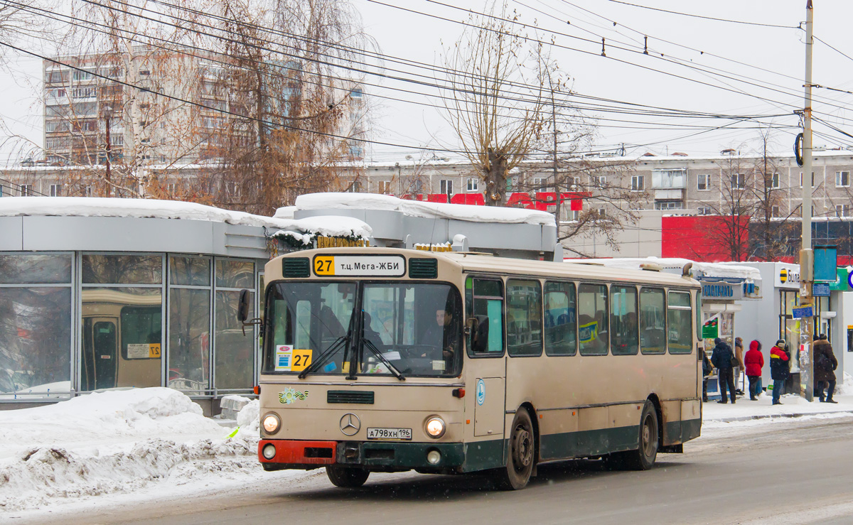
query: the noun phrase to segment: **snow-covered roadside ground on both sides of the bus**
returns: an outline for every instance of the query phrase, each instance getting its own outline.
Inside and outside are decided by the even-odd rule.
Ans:
[[[761,425],[853,416],[853,379],[837,405],[794,395],[771,406],[741,398],[703,405],[703,439],[747,433]],[[0,412],[0,522],[38,520],[50,511],[85,511],[106,503],[139,503],[229,494],[270,481],[305,482],[301,470],[265,472],[258,464],[258,401],[237,416],[239,430],[205,418],[172,389],[111,390],[55,405]],[[105,498],[107,496],[107,498]]]

